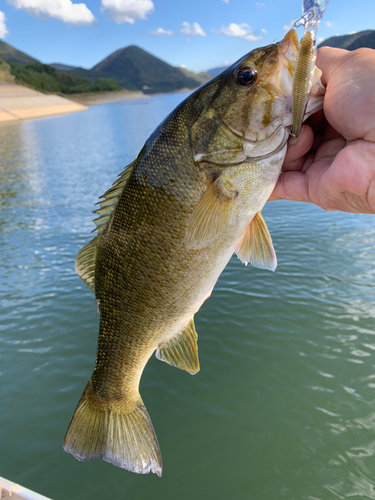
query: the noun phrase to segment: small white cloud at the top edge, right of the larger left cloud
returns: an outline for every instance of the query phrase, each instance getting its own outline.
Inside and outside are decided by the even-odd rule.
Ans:
[[[106,9],[115,23],[134,24],[136,19],[146,19],[154,4],[152,0],[102,0],[101,10]]]

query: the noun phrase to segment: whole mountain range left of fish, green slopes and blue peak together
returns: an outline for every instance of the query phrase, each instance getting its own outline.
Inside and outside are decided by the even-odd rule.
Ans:
[[[120,87],[145,93],[173,92],[196,88],[209,79],[204,73],[197,75],[171,66],[135,45],[113,52],[92,69],[42,64],[2,40],[0,53],[3,61],[10,64],[17,83],[45,92],[92,92]]]

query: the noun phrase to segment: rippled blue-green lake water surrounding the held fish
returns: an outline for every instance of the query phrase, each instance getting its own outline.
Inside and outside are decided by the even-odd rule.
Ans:
[[[0,476],[54,500],[375,499],[374,217],[274,202],[275,273],[233,257],[201,371],[141,383],[161,479],[62,450],[99,316],[74,272],[98,197],[184,95],[0,124]]]

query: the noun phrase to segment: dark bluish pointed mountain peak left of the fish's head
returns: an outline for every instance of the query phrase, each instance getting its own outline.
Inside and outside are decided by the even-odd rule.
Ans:
[[[200,85],[195,78],[184,75],[178,68],[136,45],[113,52],[91,71],[113,78],[121,87],[146,93],[173,92]]]

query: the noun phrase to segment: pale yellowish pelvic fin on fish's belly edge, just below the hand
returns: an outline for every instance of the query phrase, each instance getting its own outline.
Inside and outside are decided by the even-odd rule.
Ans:
[[[247,226],[241,240],[235,248],[237,257],[244,264],[251,264],[260,269],[274,271],[277,266],[275,249],[271,235],[261,212]]]

